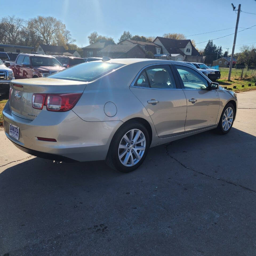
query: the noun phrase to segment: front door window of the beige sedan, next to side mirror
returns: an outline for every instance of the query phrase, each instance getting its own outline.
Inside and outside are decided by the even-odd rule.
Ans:
[[[208,87],[208,82],[197,71],[189,67],[175,65],[181,76],[185,89],[200,89],[204,90]]]

